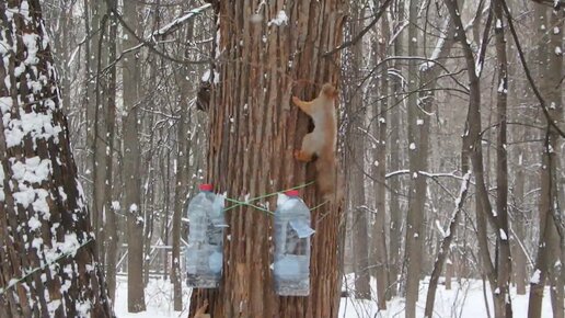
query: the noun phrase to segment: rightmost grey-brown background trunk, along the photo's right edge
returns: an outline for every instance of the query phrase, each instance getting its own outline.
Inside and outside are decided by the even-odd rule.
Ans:
[[[541,16],[546,16],[545,10],[539,7],[537,12]],[[563,54],[557,53],[557,47],[563,47],[563,19],[562,11],[551,13],[551,23],[553,30],[560,32],[550,32],[549,42],[542,42],[539,48],[539,58],[541,60],[540,68],[543,71],[540,88],[550,105],[549,114],[552,121],[558,122],[563,118],[562,88],[560,81],[563,77]],[[543,54],[543,52],[545,54]],[[546,67],[543,67],[546,65]],[[528,317],[541,317],[543,289],[545,280],[550,280],[550,293],[552,299],[552,309],[554,318],[563,318],[563,260],[560,261],[562,247],[560,238],[560,212],[557,205],[557,191],[563,191],[557,186],[557,157],[556,150],[561,149],[560,136],[554,126],[546,123],[547,130],[545,136],[545,145],[543,150],[543,164],[541,170],[541,191],[539,204],[540,217],[540,242],[538,245],[538,257],[535,260],[534,274],[530,281],[530,303],[528,307]],[[561,234],[563,235],[563,232]]]

